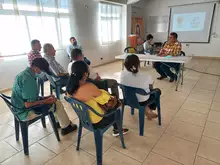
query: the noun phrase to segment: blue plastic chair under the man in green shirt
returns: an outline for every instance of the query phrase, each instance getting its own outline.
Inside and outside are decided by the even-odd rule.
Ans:
[[[16,141],[19,141],[19,125],[20,125],[22,141],[23,141],[23,148],[24,148],[24,154],[25,155],[29,155],[29,149],[28,149],[28,126],[33,124],[37,120],[41,119],[43,127],[46,128],[45,116],[49,116],[51,125],[53,127],[53,131],[54,131],[54,133],[56,135],[56,138],[57,138],[57,141],[60,141],[60,136],[59,136],[59,133],[58,133],[57,123],[56,123],[56,120],[55,120],[53,112],[49,111],[49,112],[46,112],[46,113],[44,113],[44,114],[42,114],[42,115],[40,115],[40,116],[38,116],[38,117],[36,117],[36,118],[34,118],[32,120],[23,121],[23,120],[19,119],[19,117],[18,117],[19,113],[15,111],[15,109],[20,109],[20,108],[15,107],[11,103],[11,97],[6,96],[6,95],[4,95],[2,93],[0,93],[0,97],[5,101],[5,103],[7,104],[8,108],[11,110],[11,112],[14,115]],[[31,111],[33,108],[36,108],[36,107],[44,107],[44,106],[45,105],[34,106],[32,108],[27,109],[27,111]]]

